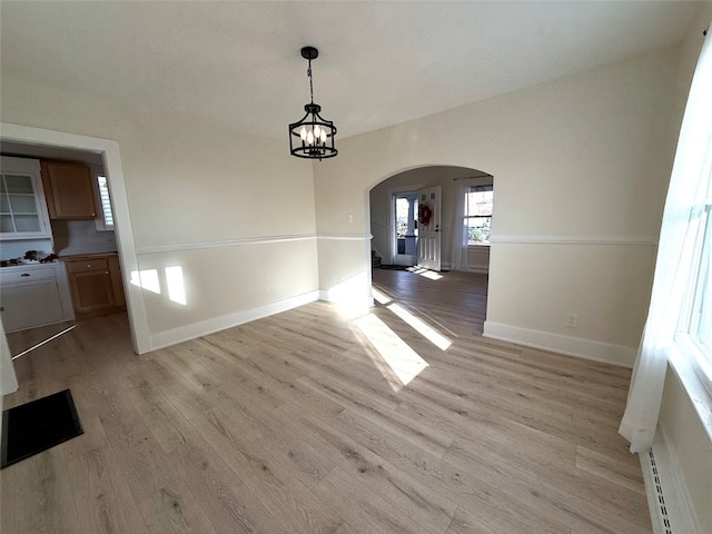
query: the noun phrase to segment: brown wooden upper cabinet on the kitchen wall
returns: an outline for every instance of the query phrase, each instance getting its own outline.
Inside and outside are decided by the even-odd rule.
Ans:
[[[97,202],[89,167],[42,161],[42,186],[50,219],[95,219]]]

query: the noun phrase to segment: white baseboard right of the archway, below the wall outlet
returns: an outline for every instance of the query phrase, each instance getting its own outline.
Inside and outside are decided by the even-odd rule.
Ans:
[[[542,330],[531,330],[491,320],[485,320],[483,336],[622,367],[633,367],[636,354],[634,348],[620,345],[562,336]]]

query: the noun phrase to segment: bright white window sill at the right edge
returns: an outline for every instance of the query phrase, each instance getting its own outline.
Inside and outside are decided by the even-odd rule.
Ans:
[[[690,354],[698,348],[685,336],[678,336],[670,350],[670,366],[680,378],[694,406],[708,437],[712,441],[712,382],[703,378],[703,370]]]

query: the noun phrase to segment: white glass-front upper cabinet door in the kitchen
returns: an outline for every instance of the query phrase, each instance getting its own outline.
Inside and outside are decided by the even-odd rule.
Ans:
[[[50,236],[40,162],[3,156],[0,162],[0,239]]]

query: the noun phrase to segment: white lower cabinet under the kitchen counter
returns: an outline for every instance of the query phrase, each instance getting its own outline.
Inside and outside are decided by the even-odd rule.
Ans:
[[[59,269],[62,269],[59,271]],[[0,313],[7,332],[62,320],[73,314],[62,264],[3,267],[0,270]]]

